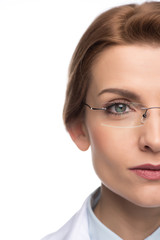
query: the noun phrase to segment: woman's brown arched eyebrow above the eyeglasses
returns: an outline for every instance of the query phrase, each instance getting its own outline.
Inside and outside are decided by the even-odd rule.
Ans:
[[[139,95],[137,95],[136,93],[134,92],[131,92],[129,90],[125,90],[125,89],[121,89],[121,88],[106,88],[106,89],[103,89],[99,94],[98,96],[104,94],[104,93],[115,93],[115,94],[118,94],[122,97],[126,97],[126,98],[130,98],[134,101],[141,101],[141,98]]]

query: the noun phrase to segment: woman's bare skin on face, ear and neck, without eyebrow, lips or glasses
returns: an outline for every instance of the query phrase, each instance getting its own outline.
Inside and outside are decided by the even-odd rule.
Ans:
[[[115,99],[133,101],[106,88],[136,93],[146,107],[160,106],[160,47],[114,46],[104,50],[92,66],[86,102],[102,107]],[[124,240],[143,240],[160,226],[160,180],[137,176],[129,168],[160,164],[160,109],[149,110],[138,128],[104,126],[103,114],[86,108],[68,131],[83,151],[89,146],[93,166],[102,182],[94,212],[99,220]]]

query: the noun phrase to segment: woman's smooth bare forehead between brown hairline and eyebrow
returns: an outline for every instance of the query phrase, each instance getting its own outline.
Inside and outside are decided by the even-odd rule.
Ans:
[[[160,47],[112,46],[95,60],[91,69],[91,94],[105,88],[158,91],[160,93]]]

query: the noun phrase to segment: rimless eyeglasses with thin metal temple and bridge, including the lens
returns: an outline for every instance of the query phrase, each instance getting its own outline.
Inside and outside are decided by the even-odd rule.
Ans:
[[[140,103],[133,102],[108,102],[105,107],[91,107],[84,103],[91,110],[103,111],[101,115],[102,125],[115,128],[135,128],[143,126],[148,117],[149,109],[160,109],[160,107],[142,107]]]

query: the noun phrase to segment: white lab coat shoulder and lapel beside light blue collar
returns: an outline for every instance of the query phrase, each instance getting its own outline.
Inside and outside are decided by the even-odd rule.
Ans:
[[[88,233],[87,201],[88,198],[82,208],[62,228],[42,240],[90,240]]]

